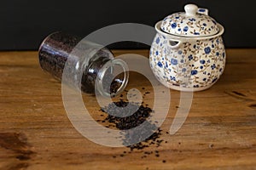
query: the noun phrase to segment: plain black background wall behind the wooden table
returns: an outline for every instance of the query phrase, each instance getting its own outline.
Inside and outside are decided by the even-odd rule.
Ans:
[[[166,15],[183,11],[186,3],[208,8],[212,18],[225,28],[227,48],[256,48],[255,1],[230,0],[4,0],[0,3],[0,50],[37,50],[54,31],[79,37],[103,26],[133,22],[154,26]],[[113,44],[112,48],[145,48],[136,42]]]

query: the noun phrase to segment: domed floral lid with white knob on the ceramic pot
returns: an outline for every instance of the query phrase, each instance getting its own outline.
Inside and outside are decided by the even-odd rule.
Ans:
[[[187,4],[185,12],[168,15],[160,29],[181,37],[207,37],[218,33],[217,22],[208,15],[208,9],[195,4]]]

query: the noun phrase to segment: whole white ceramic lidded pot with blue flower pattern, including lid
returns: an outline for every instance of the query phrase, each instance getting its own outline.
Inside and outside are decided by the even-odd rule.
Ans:
[[[149,63],[155,77],[168,88],[201,91],[222,75],[226,54],[224,27],[194,4],[155,25]]]

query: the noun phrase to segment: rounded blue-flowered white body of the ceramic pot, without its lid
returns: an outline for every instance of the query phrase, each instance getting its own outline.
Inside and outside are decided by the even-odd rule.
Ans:
[[[219,32],[211,37],[177,37],[160,31],[160,22],[150,48],[149,63],[155,77],[168,88],[201,91],[222,75],[226,54]]]

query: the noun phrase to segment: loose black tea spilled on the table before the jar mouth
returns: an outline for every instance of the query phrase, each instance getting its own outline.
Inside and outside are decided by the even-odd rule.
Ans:
[[[125,90],[127,92],[127,90]],[[149,94],[149,93],[146,93]],[[121,96],[123,96],[121,94]],[[147,139],[144,139],[142,142],[139,142],[137,144],[131,144],[128,145],[127,148],[130,149],[129,152],[124,151],[122,156],[125,156],[126,154],[131,154],[132,151],[134,150],[143,150],[145,148],[154,146],[154,147],[159,147],[160,144],[163,142],[166,143],[163,139],[160,139],[160,135],[162,134],[162,130],[160,127],[156,127],[154,125],[154,122],[149,122],[147,119],[150,116],[150,113],[152,112],[152,109],[148,107],[148,105],[137,105],[136,103],[132,103],[130,107],[138,107],[138,110],[131,115],[129,111],[123,113],[122,108],[127,106],[129,102],[124,101],[123,99],[120,99],[117,102],[113,102],[109,104],[108,106],[105,106],[104,108],[101,109],[102,112],[105,112],[107,114],[106,118],[102,120],[103,123],[108,122],[108,127],[112,125],[113,127],[118,128],[119,130],[127,130],[131,129],[133,127],[138,127],[141,125],[143,122],[146,123],[146,127],[144,129],[139,129],[140,133],[125,133],[122,134],[122,140],[123,144],[131,144],[131,141],[138,141],[142,136],[149,135]],[[117,107],[116,107],[117,106]],[[133,109],[131,108],[131,111]],[[113,113],[119,113],[119,116],[113,116]],[[131,116],[125,116],[125,115],[131,115]],[[125,116],[125,117],[123,117]],[[150,130],[151,129],[151,130]],[[156,129],[153,132],[153,129]],[[129,132],[129,131],[127,131]],[[154,155],[155,157],[160,157],[160,152],[159,150],[154,150],[154,151],[144,151],[143,156],[141,158],[146,158],[149,155]],[[116,156],[113,156],[115,158]],[[163,161],[164,162],[164,161]]]

